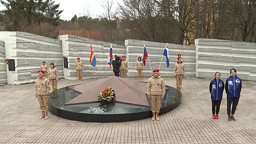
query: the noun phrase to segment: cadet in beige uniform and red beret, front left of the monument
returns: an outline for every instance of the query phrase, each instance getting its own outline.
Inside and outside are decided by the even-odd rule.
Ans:
[[[35,80],[35,98],[38,98],[40,109],[42,111],[42,116],[39,118],[48,118],[48,95],[51,90],[49,86],[49,81],[44,77],[44,71],[38,71],[37,80]],[[45,112],[45,113],[44,113]]]

